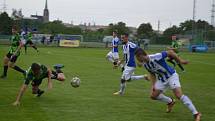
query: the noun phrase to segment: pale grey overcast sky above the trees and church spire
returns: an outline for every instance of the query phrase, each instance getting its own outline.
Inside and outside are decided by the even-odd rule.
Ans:
[[[4,0],[0,0],[0,4]],[[22,8],[25,16],[43,14],[45,0],[5,0],[8,12]],[[196,18],[210,22],[212,0],[197,0]],[[2,6],[1,6],[2,7]],[[128,26],[138,27],[150,22],[161,29],[192,18],[193,0],[48,0],[50,19],[60,19],[74,24],[95,22],[108,25],[123,21]]]

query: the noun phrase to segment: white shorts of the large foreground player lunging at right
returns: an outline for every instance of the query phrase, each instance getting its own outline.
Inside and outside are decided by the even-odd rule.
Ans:
[[[156,90],[161,90],[165,91],[166,89],[176,89],[181,87],[180,81],[179,81],[179,76],[177,73],[174,73],[168,80],[167,82],[162,82],[160,80],[157,80],[155,83],[155,89]]]

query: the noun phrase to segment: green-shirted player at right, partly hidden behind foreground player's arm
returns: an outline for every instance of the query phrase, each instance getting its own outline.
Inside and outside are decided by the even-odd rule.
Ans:
[[[168,50],[173,50],[175,53],[177,53],[177,54],[179,55],[179,43],[178,43],[178,41],[177,41],[177,37],[176,37],[176,36],[172,36],[172,46],[171,46],[171,47],[168,47],[167,49],[168,49]],[[167,59],[167,61],[170,62],[170,63],[172,63],[174,67],[176,66],[176,63],[177,63],[177,62],[175,62],[173,58],[170,58],[170,57],[169,57],[169,58]],[[182,64],[177,63],[177,65],[178,65],[178,67],[182,70],[182,72],[185,71],[185,69],[184,69],[184,67],[182,66]]]

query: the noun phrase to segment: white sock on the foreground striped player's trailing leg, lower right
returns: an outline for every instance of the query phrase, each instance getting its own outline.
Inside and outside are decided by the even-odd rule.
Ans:
[[[184,103],[185,106],[187,106],[187,108],[193,113],[193,115],[198,113],[189,97],[187,97],[186,95],[182,95],[180,100]]]

